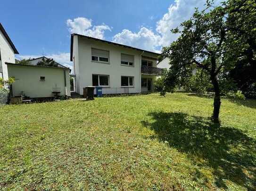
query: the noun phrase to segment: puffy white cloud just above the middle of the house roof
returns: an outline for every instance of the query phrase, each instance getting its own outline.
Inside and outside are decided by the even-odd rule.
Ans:
[[[124,29],[113,37],[113,41],[134,46],[149,51],[157,51],[161,37],[146,27],[141,27],[138,33]]]

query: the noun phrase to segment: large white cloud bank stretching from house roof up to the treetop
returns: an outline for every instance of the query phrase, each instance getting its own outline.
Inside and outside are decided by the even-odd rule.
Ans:
[[[216,0],[219,3],[221,0]],[[175,0],[156,25],[156,32],[146,27],[141,27],[138,33],[124,29],[113,37],[113,41],[129,46],[135,46],[146,50],[159,52],[161,46],[168,46],[179,37],[179,34],[171,33],[171,29],[179,27],[188,20],[195,8],[205,8],[206,0]],[[150,16],[149,19],[153,19]]]

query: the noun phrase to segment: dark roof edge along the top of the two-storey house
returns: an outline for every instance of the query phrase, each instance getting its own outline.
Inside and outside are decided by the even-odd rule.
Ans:
[[[143,49],[140,49],[140,48],[135,48],[135,47],[132,47],[132,46],[122,45],[122,44],[118,44],[118,43],[115,43],[115,42],[111,42],[111,41],[107,41],[107,40],[102,40],[102,39],[99,39],[99,38],[93,38],[93,37],[89,37],[89,36],[73,33],[73,34],[71,34],[71,42],[70,42],[71,43],[70,44],[70,61],[73,61],[73,38],[74,38],[75,35],[78,36],[78,37],[83,37],[83,38],[88,38],[88,39],[92,39],[92,40],[101,41],[101,42],[104,42],[104,43],[107,43],[107,44],[123,46],[125,48],[130,48],[130,49],[138,50],[138,51],[145,52],[145,53],[155,54],[157,56],[161,55],[160,53],[155,53],[155,52],[151,52],[151,51],[148,51],[148,50],[143,50]]]

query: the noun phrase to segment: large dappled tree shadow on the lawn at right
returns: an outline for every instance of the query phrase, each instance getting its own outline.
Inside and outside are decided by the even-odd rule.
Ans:
[[[197,165],[198,172],[200,166],[213,168],[218,187],[227,188],[225,180],[229,180],[248,190],[255,189],[255,139],[249,138],[241,130],[219,126],[202,117],[163,112],[149,115],[155,122],[142,121],[142,124],[156,132],[150,138],[168,141],[170,147],[187,153]],[[199,162],[198,159],[204,161]]]

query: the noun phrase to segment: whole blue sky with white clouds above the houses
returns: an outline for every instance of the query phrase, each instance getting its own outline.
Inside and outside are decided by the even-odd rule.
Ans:
[[[17,58],[46,55],[70,64],[70,33],[159,52],[177,38],[170,33],[205,0],[9,0],[0,22]]]

